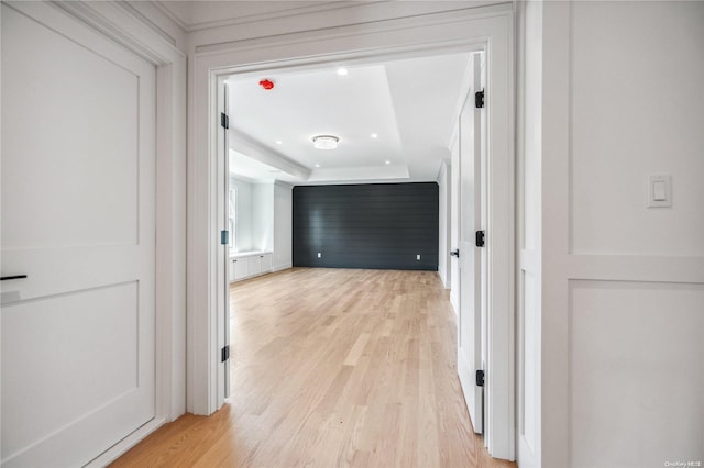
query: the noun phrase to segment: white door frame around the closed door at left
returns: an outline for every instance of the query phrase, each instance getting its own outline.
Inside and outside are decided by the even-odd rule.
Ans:
[[[119,2],[7,4],[75,40],[108,36],[156,69],[155,416],[88,465],[105,466],[185,412],[186,55]]]

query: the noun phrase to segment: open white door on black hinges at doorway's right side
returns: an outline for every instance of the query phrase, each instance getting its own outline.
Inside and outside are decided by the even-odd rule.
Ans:
[[[486,370],[482,359],[483,310],[486,308],[486,255],[476,246],[485,210],[482,166],[481,109],[475,92],[481,89],[481,55],[471,58],[472,88],[460,112],[460,314],[458,326],[458,372],[476,433],[484,433],[483,388],[476,371]]]

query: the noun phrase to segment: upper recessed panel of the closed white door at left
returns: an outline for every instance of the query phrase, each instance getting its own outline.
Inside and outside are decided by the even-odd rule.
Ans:
[[[140,76],[4,12],[3,247],[134,245]]]

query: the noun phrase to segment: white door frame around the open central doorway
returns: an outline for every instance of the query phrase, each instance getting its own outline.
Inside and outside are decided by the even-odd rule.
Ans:
[[[211,414],[224,400],[218,324],[227,280],[220,271],[220,231],[223,203],[218,161],[218,79],[232,74],[260,74],[271,69],[333,66],[340,62],[380,62],[437,53],[487,52],[487,118],[490,212],[487,243],[491,282],[490,354],[496,363],[488,375],[490,431],[485,435],[494,457],[515,459],[514,389],[514,11],[513,4],[457,10],[405,19],[383,20],[195,46],[189,80],[188,122],[188,409]],[[501,56],[501,59],[499,59]],[[492,90],[495,92],[492,93]],[[501,92],[496,92],[501,90]]]

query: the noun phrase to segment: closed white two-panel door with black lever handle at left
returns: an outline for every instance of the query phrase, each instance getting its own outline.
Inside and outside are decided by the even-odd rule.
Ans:
[[[81,466],[154,416],[155,69],[2,4],[2,465]]]

